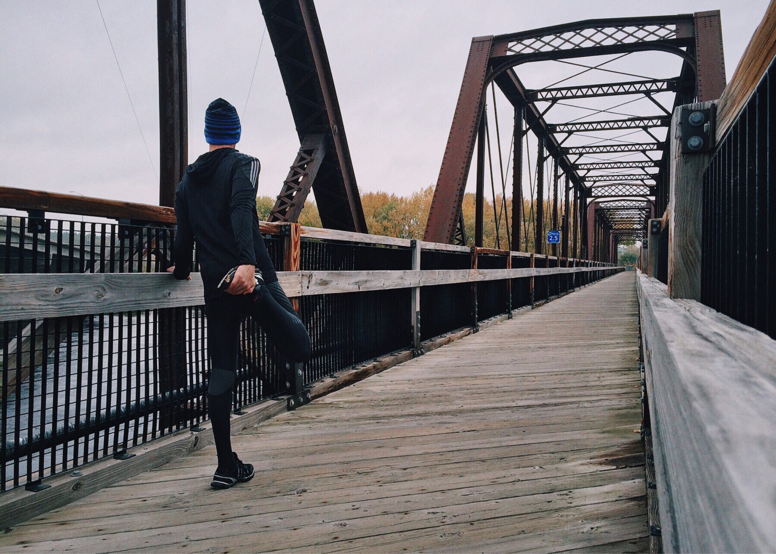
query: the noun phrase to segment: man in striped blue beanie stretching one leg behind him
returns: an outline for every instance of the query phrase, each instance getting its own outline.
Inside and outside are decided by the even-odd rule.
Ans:
[[[234,147],[240,140],[237,110],[224,99],[205,113],[210,151],[186,168],[175,192],[175,279],[191,279],[196,251],[205,289],[210,355],[208,405],[218,468],[210,486],[228,489],[253,478],[251,464],[232,452],[229,417],[237,372],[240,324],[250,315],[291,362],[310,358],[310,335],[280,287],[258,230],[256,189],[260,165]],[[234,271],[232,271],[234,270]]]

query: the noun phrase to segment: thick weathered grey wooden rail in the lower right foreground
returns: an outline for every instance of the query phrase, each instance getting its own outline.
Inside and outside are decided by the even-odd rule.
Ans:
[[[776,552],[776,341],[636,277],[666,552]]]

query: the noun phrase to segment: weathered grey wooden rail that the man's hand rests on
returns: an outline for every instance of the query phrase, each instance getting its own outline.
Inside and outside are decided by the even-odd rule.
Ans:
[[[615,266],[514,269],[278,272],[289,297],[452,285],[615,269]],[[199,273],[9,273],[0,275],[0,322],[151,310],[203,303]]]

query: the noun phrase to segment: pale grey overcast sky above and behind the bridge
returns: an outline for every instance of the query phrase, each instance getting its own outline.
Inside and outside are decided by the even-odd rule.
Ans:
[[[222,96],[242,119],[238,149],[262,161],[259,193],[275,196],[299,140],[266,36],[259,54],[258,2],[186,3],[189,159],[206,151],[204,111]],[[0,0],[0,184],[158,203],[156,2],[100,6],[150,159],[95,0]],[[720,9],[729,78],[766,6],[767,0],[316,2],[359,188],[398,194],[436,182],[471,37]],[[656,78],[678,73],[678,58],[652,56],[634,54],[608,67]],[[579,69],[551,64],[522,66],[518,75],[535,87]],[[605,75],[598,80],[612,80]],[[569,108],[554,108],[547,119],[565,115],[559,109]],[[504,144],[510,133],[502,130]]]

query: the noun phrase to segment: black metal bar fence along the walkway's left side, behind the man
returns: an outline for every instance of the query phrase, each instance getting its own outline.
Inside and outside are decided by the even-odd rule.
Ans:
[[[0,233],[5,273],[162,272],[171,263],[174,235],[162,225],[26,217],[6,217]],[[266,235],[265,241],[282,268],[284,237]],[[529,259],[513,256],[512,263],[525,267]],[[303,271],[409,270],[411,260],[412,249],[404,246],[306,237],[300,243]],[[470,251],[421,252],[421,269],[469,269],[472,261]],[[479,256],[480,268],[506,263],[506,254]],[[604,273],[580,274],[578,284]],[[537,278],[544,289],[539,296],[563,292],[566,279]],[[512,308],[530,304],[530,281],[424,287],[421,338],[472,326],[475,313],[478,320],[507,313],[510,282]],[[411,348],[410,298],[406,288],[302,296],[300,315],[313,339],[304,382]],[[0,490],[123,455],[206,418],[209,363],[201,305],[4,321],[0,332]],[[252,320],[244,321],[241,337],[234,410],[286,393],[288,386],[272,345]]]

